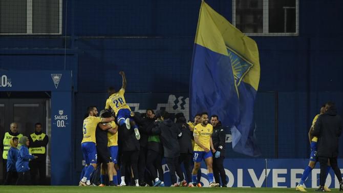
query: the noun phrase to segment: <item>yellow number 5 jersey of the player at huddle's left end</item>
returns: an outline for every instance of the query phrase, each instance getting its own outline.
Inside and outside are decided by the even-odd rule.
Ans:
[[[98,123],[102,122],[102,118],[89,116],[83,120],[83,139],[81,143],[84,142],[94,142],[95,139],[95,130]]]

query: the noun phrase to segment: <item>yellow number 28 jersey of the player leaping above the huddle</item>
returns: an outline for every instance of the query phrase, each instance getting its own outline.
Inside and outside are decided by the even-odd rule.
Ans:
[[[121,109],[128,109],[131,111],[130,106],[126,104],[125,98],[124,98],[125,90],[121,88],[119,92],[112,94],[107,100],[105,109],[113,109],[113,111],[116,113],[116,116],[118,114],[118,111]]]

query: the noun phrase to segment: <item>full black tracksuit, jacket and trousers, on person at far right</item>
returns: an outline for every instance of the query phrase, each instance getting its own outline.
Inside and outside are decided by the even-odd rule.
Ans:
[[[326,181],[326,169],[328,159],[335,172],[338,181],[341,183],[342,177],[337,164],[338,140],[342,132],[342,120],[337,115],[337,110],[331,106],[328,111],[320,115],[315,123],[313,136],[318,137],[317,156],[320,163],[320,185],[324,187]]]

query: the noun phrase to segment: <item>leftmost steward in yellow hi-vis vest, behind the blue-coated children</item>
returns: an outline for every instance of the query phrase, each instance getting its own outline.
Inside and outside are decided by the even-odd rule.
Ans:
[[[20,139],[20,137],[23,137],[23,134],[18,133],[18,124],[13,122],[10,124],[10,131],[6,132],[3,138],[3,176],[5,177],[7,174],[6,167],[7,167],[7,154],[9,149],[11,148],[10,140],[13,137],[17,137]],[[17,148],[19,149],[21,144],[18,144]]]

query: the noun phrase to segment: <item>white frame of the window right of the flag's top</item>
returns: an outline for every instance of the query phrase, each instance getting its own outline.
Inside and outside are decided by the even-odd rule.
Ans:
[[[236,26],[236,1],[232,0],[232,25]],[[277,0],[276,0],[277,1]],[[299,0],[295,0],[295,33],[269,33],[269,0],[263,0],[263,32],[244,33],[248,36],[298,36],[299,35]],[[291,7],[284,7],[285,10]],[[285,11],[286,15],[286,11]],[[285,21],[286,25],[286,21]]]

